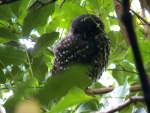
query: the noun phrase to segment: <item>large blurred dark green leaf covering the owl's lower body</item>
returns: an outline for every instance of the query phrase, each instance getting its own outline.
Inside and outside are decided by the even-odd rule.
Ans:
[[[92,79],[86,74],[88,69],[83,65],[73,65],[70,69],[62,71],[49,78],[46,86],[36,96],[39,101],[47,103],[55,98],[62,97],[74,86],[85,89],[91,85]]]

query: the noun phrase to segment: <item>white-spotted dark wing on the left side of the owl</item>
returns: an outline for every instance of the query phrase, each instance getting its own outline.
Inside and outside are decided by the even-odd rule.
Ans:
[[[96,52],[93,46],[95,46],[93,43],[83,40],[81,35],[66,36],[53,49],[55,55],[53,72],[56,73],[60,70],[65,70],[68,63],[73,61],[81,61],[82,63],[89,62],[92,54]]]

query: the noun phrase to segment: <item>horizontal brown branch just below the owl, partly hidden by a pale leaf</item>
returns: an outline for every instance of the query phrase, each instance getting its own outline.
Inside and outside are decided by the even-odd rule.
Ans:
[[[97,88],[97,89],[86,89],[85,92],[88,95],[97,95],[97,94],[105,94],[114,90],[114,87],[109,88]],[[140,85],[131,86],[130,92],[142,91],[142,87]]]

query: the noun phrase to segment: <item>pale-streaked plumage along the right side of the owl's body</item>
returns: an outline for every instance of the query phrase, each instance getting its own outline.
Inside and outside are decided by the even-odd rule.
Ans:
[[[93,81],[98,80],[102,73],[106,70],[110,54],[110,40],[105,34],[98,35],[96,42],[98,51],[91,60],[92,69],[90,76]]]

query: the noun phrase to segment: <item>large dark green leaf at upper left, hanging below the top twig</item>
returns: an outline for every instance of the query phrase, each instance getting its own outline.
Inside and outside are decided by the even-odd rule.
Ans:
[[[30,9],[24,19],[22,32],[24,36],[29,36],[33,29],[46,25],[49,16],[54,12],[54,4],[48,4],[40,9]]]

